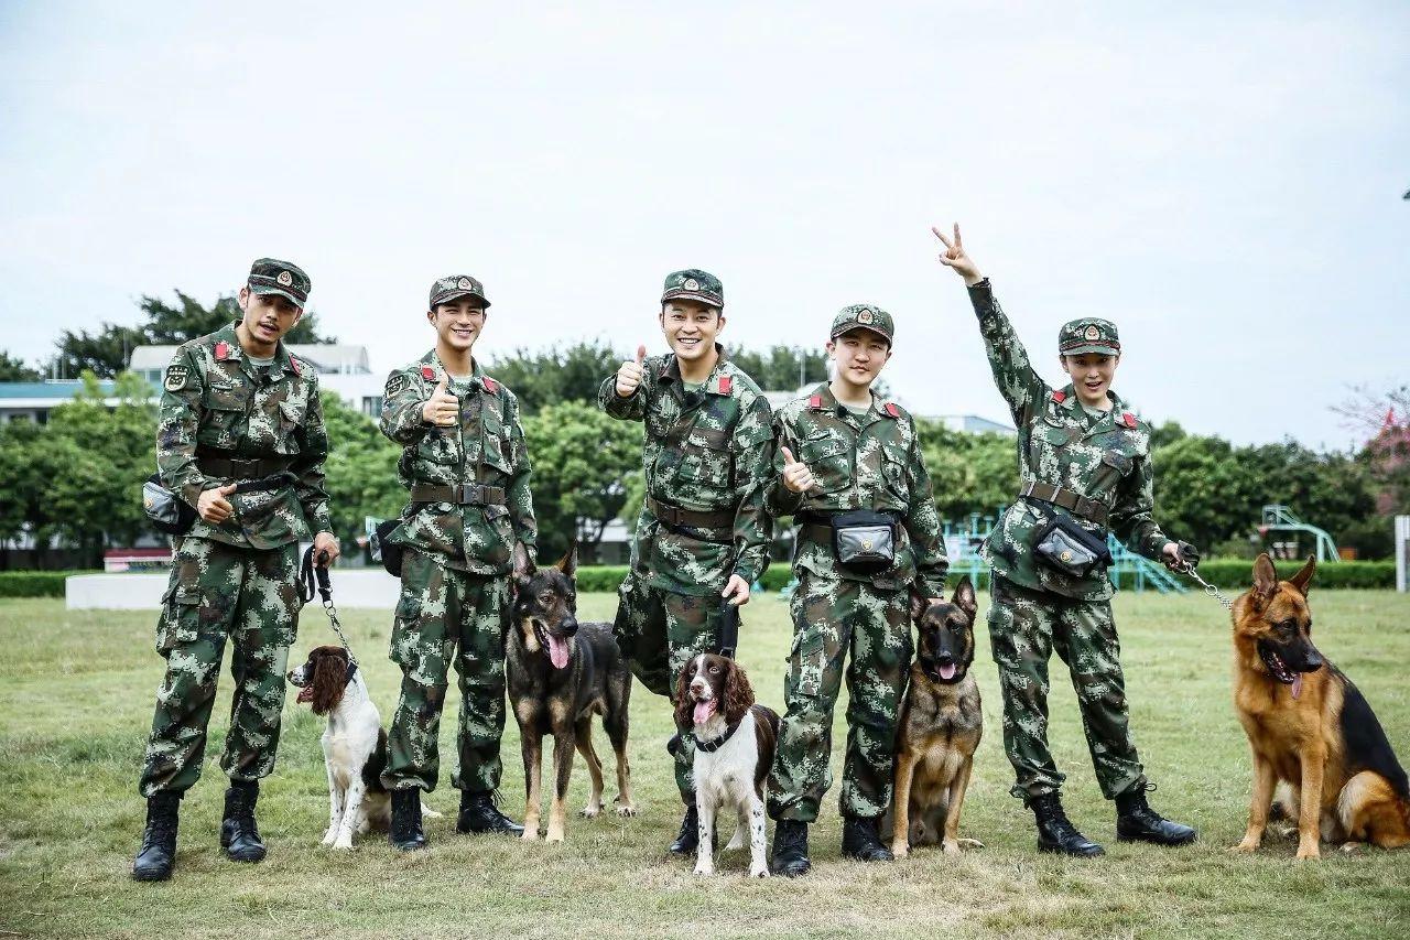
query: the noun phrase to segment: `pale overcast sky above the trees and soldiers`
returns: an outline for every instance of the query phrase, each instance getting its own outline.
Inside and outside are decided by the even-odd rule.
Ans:
[[[1342,447],[1410,380],[1406,3],[233,6],[0,3],[0,349],[275,255],[379,371],[462,272],[489,358],[658,351],[701,267],[726,340],[876,303],[901,401],[1007,421],[959,220],[1039,371],[1108,316],[1153,421]]]

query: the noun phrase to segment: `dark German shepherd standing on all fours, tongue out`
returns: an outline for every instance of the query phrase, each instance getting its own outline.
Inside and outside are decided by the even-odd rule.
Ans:
[[[513,627],[505,642],[505,679],[523,742],[527,806],[523,838],[539,838],[543,735],[553,735],[554,789],[546,841],[561,843],[567,826],[565,800],[572,752],[592,775],[592,796],[582,816],[602,812],[602,761],[592,749],[592,716],[616,752],[619,816],[633,816],[630,768],[626,759],[627,703],[632,673],[609,624],[580,624],[578,546],[553,567],[534,569],[523,546],[515,546]]]

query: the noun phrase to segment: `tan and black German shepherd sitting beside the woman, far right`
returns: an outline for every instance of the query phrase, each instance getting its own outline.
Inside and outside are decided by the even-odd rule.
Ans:
[[[1297,820],[1299,858],[1320,855],[1318,837],[1344,851],[1410,843],[1406,772],[1365,697],[1313,646],[1316,570],[1308,558],[1280,582],[1259,555],[1253,587],[1234,601],[1234,707],[1253,752],[1253,799],[1232,851],[1258,848],[1270,806]]]

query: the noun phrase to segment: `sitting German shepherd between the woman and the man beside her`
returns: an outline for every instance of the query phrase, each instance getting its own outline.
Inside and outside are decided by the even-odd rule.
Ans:
[[[901,704],[895,741],[895,786],[881,817],[891,828],[891,854],[940,843],[946,852],[983,848],[959,838],[960,807],[984,731],[974,662],[974,586],[966,574],[950,601],[926,604],[911,594],[916,656]]]

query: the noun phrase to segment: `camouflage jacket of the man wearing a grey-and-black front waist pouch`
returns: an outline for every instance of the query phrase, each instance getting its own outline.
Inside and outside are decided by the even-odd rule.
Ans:
[[[838,512],[873,510],[894,512],[901,519],[895,563],[877,574],[857,574],[838,565],[832,542],[807,536],[801,529],[794,567],[823,577],[869,582],[895,590],[911,583],[926,597],[945,591],[950,562],[945,556],[940,517],[935,511],[931,476],[921,457],[915,422],[895,402],[871,397],[871,411],[853,415],[838,404],[823,382],[807,398],[798,398],[774,416],[774,436],[798,460],[808,464],[816,486],[794,493],[783,481],[783,453],[774,459],[774,473],[764,488],[770,512],[795,515],[799,511]]]

